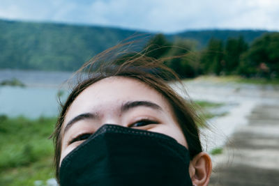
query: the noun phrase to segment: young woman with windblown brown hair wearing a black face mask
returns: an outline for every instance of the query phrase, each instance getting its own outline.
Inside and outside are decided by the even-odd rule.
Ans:
[[[84,65],[89,77],[73,88],[56,123],[58,183],[207,185],[212,166],[200,122],[169,86],[172,71],[142,55],[98,60]]]

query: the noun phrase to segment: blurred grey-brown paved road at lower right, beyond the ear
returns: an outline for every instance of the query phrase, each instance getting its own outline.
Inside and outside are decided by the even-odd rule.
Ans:
[[[218,155],[210,185],[279,185],[279,105],[257,105]]]

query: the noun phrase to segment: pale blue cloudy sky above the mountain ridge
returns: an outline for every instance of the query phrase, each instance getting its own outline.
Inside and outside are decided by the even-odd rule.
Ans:
[[[0,19],[164,33],[187,29],[279,31],[279,0],[0,0]]]

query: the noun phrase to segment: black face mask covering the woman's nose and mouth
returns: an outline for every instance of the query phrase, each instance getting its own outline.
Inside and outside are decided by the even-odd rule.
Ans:
[[[103,125],[62,161],[61,186],[193,185],[187,148],[165,134]]]

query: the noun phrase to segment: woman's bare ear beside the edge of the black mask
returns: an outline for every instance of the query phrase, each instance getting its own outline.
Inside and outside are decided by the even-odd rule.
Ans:
[[[209,184],[212,163],[207,153],[199,153],[190,161],[189,173],[193,185],[204,186]]]

